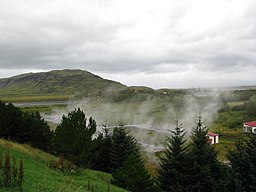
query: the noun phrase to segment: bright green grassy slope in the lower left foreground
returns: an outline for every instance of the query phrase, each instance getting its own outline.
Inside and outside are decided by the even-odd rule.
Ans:
[[[93,170],[74,169],[74,171],[62,172],[49,168],[49,163],[58,161],[58,158],[34,149],[27,145],[21,145],[0,139],[0,154],[5,156],[10,153],[11,164],[13,155],[16,161],[24,161],[24,186],[25,192],[37,191],[125,191],[110,185],[111,175]],[[4,165],[4,158],[3,158]],[[1,175],[2,177],[2,175]],[[19,191],[18,188],[0,188],[0,191]]]

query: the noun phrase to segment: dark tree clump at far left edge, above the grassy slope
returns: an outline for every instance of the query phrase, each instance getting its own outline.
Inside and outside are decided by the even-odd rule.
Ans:
[[[52,132],[39,112],[22,112],[13,104],[0,101],[0,137],[49,151]]]

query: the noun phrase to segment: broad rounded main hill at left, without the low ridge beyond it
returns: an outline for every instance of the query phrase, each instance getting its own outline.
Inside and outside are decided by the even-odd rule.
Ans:
[[[126,86],[121,83],[82,70],[54,70],[0,79],[0,96],[97,96],[124,88]]]

